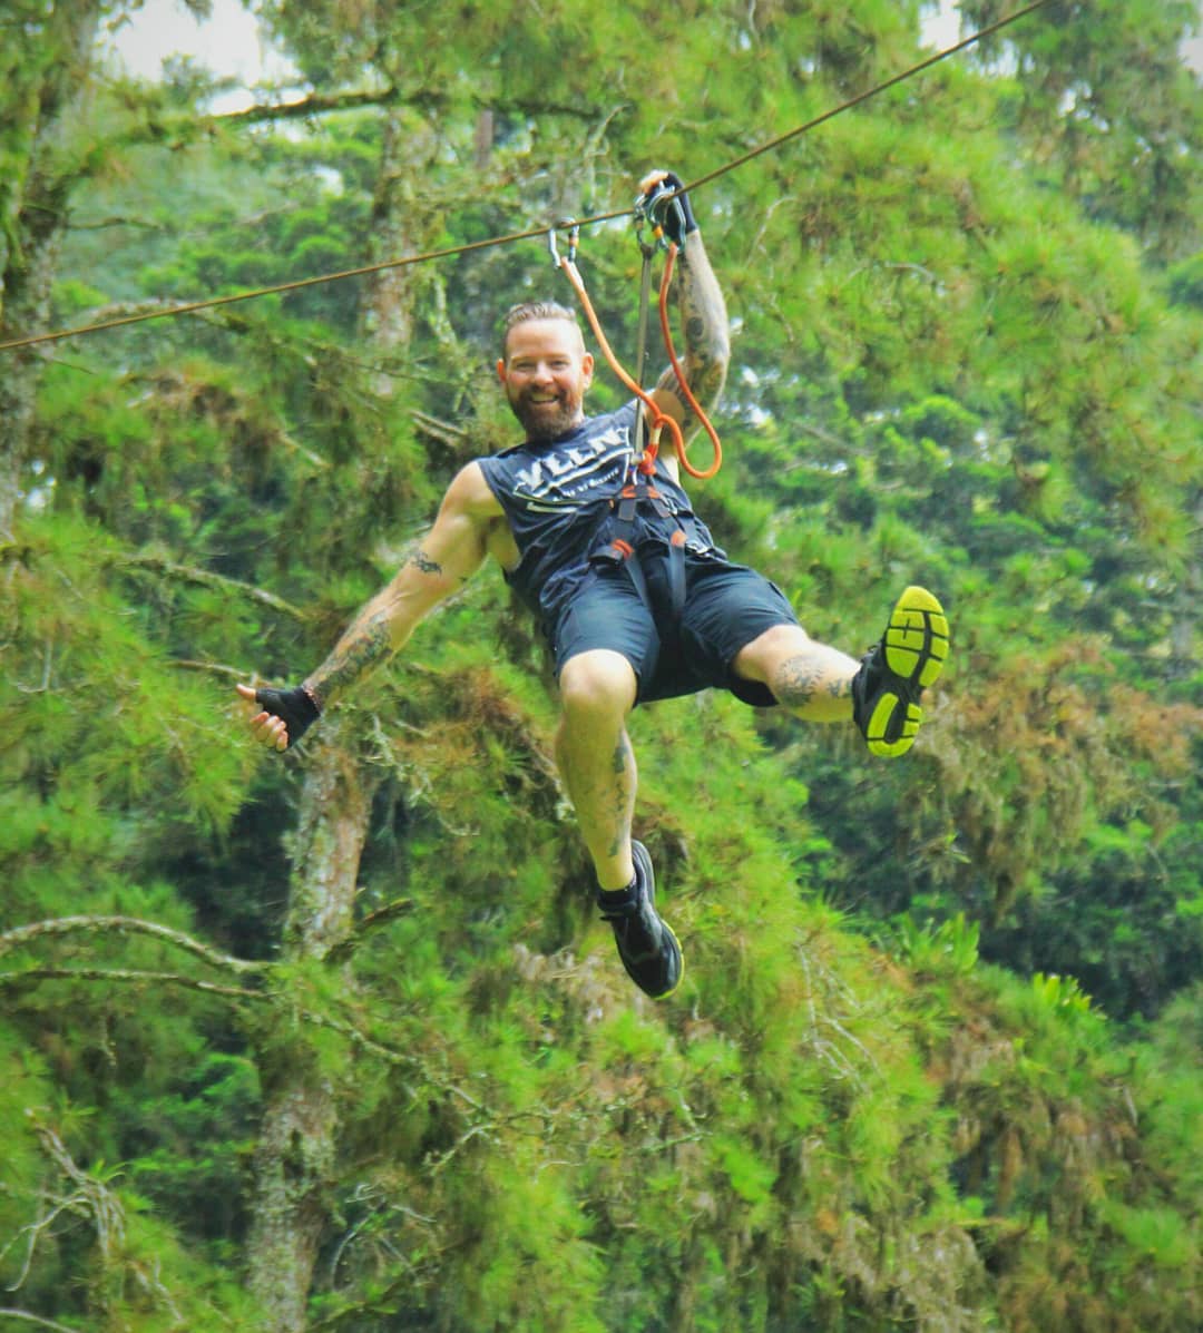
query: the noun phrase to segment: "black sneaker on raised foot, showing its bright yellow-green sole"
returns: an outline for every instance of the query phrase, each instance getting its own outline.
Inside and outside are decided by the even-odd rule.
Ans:
[[[926,588],[907,588],[852,677],[852,717],[874,754],[894,757],[911,748],[923,721],[919,696],[947,657],[944,608]]]

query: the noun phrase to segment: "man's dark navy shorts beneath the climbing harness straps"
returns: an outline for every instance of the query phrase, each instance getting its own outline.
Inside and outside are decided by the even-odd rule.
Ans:
[[[676,623],[667,553],[640,556],[651,605],[626,565],[596,567],[551,636],[556,676],[569,657],[608,648],[635,669],[642,704],[710,686],[756,708],[775,704],[767,685],[740,680],[732,664],[766,629],[798,624],[786,595],[755,569],[719,556],[687,552],[684,560],[686,600]]]

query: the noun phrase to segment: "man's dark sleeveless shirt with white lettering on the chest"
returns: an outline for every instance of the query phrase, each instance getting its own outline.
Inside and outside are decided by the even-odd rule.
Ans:
[[[517,567],[505,579],[548,629],[588,577],[589,557],[610,541],[611,500],[627,480],[639,407],[632,399],[548,444],[528,441],[480,460],[517,544]],[[712,551],[710,532],[659,457],[654,485],[672,517],[640,513],[636,548],[667,547],[678,520],[687,519],[690,545]]]

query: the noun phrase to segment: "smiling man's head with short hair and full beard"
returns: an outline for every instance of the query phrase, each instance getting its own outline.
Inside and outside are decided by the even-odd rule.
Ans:
[[[584,420],[593,359],[569,320],[524,320],[505,337],[497,379],[527,439],[545,444]]]

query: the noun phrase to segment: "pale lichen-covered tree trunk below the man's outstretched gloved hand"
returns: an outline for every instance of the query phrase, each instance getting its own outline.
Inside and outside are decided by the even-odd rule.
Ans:
[[[311,760],[300,818],[291,836],[292,877],[284,958],[321,960],[353,922],[359,857],[371,813],[371,784],[340,744],[337,724]],[[251,1289],[269,1333],[303,1333],[317,1248],[329,1220],[339,1113],[336,1089],[304,1034],[260,1061],[265,1110],[256,1154],[249,1242]]]

